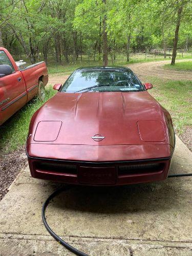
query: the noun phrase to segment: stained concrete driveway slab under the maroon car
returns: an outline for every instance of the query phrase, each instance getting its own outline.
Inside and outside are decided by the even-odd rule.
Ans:
[[[170,173],[189,173],[177,138]],[[91,255],[192,255],[192,177],[122,187],[72,186],[48,206],[53,230]],[[0,255],[72,255],[49,235],[41,206],[61,184],[25,168],[0,203]]]

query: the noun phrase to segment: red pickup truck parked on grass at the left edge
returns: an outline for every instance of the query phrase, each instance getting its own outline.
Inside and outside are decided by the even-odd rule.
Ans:
[[[0,125],[36,94],[45,97],[48,82],[46,63],[19,69],[11,54],[0,47]]]

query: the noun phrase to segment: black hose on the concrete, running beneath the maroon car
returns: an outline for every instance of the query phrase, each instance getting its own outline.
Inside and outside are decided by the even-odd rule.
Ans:
[[[168,175],[167,178],[186,177],[186,176],[192,176],[192,173],[189,173],[189,174],[172,174],[172,175]],[[42,206],[42,222],[44,222],[44,225],[45,225],[46,229],[48,230],[48,232],[51,234],[51,236],[56,241],[58,241],[60,244],[65,246],[68,250],[72,251],[73,253],[75,253],[76,255],[79,255],[79,256],[88,256],[88,254],[75,249],[73,246],[71,246],[70,244],[68,244],[64,240],[62,240],[60,237],[58,237],[57,234],[53,232],[53,230],[50,228],[50,226],[48,225],[48,223],[46,221],[45,211],[46,211],[46,207],[48,206],[50,200],[53,199],[55,196],[57,196],[62,191],[65,191],[65,190],[68,190],[68,189],[69,189],[68,186],[59,188],[59,189],[55,190],[53,192],[53,194],[51,194],[48,197],[48,199],[45,201],[44,205]]]

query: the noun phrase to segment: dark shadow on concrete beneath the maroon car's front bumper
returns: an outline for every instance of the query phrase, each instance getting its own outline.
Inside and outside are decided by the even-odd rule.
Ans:
[[[97,214],[161,211],[174,208],[177,194],[173,190],[177,191],[178,187],[172,179],[119,187],[67,186],[66,191],[53,199],[52,205],[55,211],[60,208]]]

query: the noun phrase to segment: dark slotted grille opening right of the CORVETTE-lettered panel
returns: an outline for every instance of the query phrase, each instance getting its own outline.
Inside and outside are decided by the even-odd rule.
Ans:
[[[164,163],[125,164],[118,166],[118,175],[154,173],[160,172],[163,168]]]

